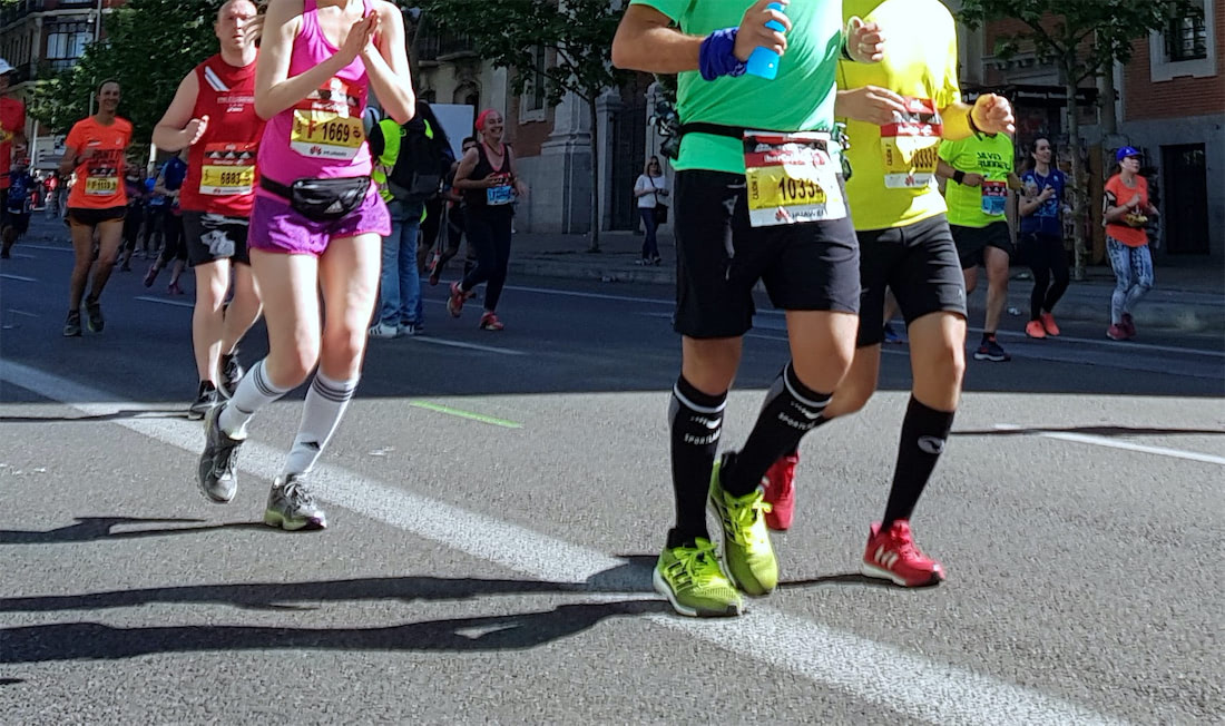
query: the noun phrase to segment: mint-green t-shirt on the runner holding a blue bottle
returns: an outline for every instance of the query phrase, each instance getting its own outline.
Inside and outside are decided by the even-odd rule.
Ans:
[[[632,0],[676,21],[688,36],[739,27],[752,0]],[[804,0],[786,7],[791,31],[773,81],[745,73],[703,81],[697,71],[677,78],[681,122],[763,131],[828,131],[834,122],[834,75],[842,48],[842,2]],[[674,169],[745,173],[744,143],[725,136],[686,133]]]

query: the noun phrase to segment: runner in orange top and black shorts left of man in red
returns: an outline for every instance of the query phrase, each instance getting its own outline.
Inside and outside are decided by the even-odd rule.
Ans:
[[[69,288],[69,316],[64,335],[81,335],[81,298],[93,266],[93,235],[98,233],[98,267],[93,286],[85,298],[89,331],[100,333],[105,320],[98,298],[115,267],[124,239],[127,191],[124,189],[124,154],[132,140],[132,125],[115,115],[119,109],[119,83],[103,81],[98,87],[98,113],[72,126],[64,142],[61,174],[76,174],[69,195],[67,220],[72,229],[76,261]],[[75,171],[74,171],[75,170]]]

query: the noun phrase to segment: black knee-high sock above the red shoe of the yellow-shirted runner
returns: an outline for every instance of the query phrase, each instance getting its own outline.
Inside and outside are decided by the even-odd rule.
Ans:
[[[893,470],[889,502],[881,520],[882,530],[888,529],[897,519],[910,519],[936,462],[944,451],[954,415],[954,411],[937,411],[910,397],[907,417],[902,421],[898,463]]]

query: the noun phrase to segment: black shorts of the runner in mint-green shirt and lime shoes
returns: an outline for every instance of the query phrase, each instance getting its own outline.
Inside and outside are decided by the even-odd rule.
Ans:
[[[850,217],[753,228],[744,175],[699,169],[676,173],[673,213],[677,333],[744,335],[752,328],[758,280],[782,310],[859,312],[859,242]]]

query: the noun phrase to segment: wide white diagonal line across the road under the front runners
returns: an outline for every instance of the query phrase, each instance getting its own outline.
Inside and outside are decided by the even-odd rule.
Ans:
[[[7,361],[0,361],[0,380],[88,415],[142,408],[142,404],[116,402],[109,393]],[[76,403],[87,400],[110,403]],[[110,422],[191,453],[201,449],[203,440],[200,424],[185,420],[135,417]],[[258,442],[249,442],[243,447],[240,460],[245,473],[268,480],[279,473],[284,455]],[[192,474],[194,469],[184,471],[185,491],[191,486]],[[320,465],[316,481],[321,498],[334,504],[540,580],[582,584],[626,564],[625,559],[390,487],[339,466]],[[655,626],[793,671],[910,719],[942,725],[1117,722],[1083,706],[930,661],[768,606],[753,605],[748,615],[723,621],[662,613],[644,617]]]

